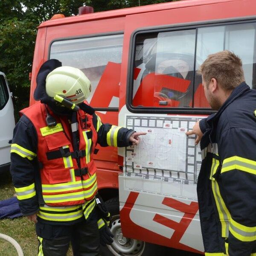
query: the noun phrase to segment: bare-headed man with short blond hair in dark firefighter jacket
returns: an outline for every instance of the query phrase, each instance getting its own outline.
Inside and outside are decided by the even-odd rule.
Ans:
[[[187,135],[201,140],[198,177],[201,230],[207,256],[256,255],[256,91],[230,51],[201,65],[205,96],[218,111]]]

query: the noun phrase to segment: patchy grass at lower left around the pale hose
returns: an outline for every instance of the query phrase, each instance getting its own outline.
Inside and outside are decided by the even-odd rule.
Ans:
[[[10,175],[0,175],[0,201],[12,198],[15,194]],[[0,233],[11,236],[21,246],[24,256],[36,256],[38,240],[35,234],[35,224],[26,217],[6,218],[0,220]],[[3,239],[0,239],[0,256],[18,255],[15,247]],[[67,256],[72,256],[71,250]]]

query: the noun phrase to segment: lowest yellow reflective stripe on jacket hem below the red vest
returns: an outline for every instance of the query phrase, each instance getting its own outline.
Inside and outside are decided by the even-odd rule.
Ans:
[[[49,212],[42,212],[39,211],[38,217],[49,220],[49,221],[73,221],[83,216],[82,208],[76,212],[69,212],[69,213],[49,213]]]

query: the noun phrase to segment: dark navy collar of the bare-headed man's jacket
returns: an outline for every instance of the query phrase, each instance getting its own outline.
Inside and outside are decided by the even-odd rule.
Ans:
[[[210,129],[204,134],[204,137],[209,138],[208,143],[212,144],[212,139],[214,139],[214,137],[215,137],[214,127],[216,127],[216,125],[218,123],[218,119],[220,118],[222,112],[227,108],[228,105],[230,105],[233,101],[235,101],[239,96],[241,96],[244,92],[246,92],[248,90],[250,90],[250,87],[245,82],[242,82],[241,84],[239,84],[239,86],[236,87],[232,91],[232,93],[227,98],[227,100],[224,102],[224,104],[221,106],[221,108],[218,110],[218,112],[215,113],[215,115],[212,115],[207,119],[207,123],[208,123]],[[208,143],[205,142],[203,144],[208,144]]]

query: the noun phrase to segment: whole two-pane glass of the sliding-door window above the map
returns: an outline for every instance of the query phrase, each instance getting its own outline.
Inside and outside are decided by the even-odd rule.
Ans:
[[[210,108],[196,71],[209,54],[224,49],[239,55],[247,84],[256,87],[255,23],[139,32],[132,106]]]

